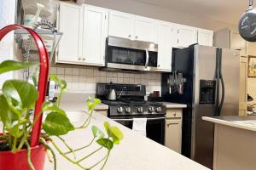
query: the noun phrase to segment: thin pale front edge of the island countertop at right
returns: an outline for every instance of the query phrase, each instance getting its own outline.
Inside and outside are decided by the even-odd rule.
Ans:
[[[218,118],[213,118],[213,117],[208,117],[208,116],[202,116],[201,118],[204,121],[214,122],[214,123],[218,123],[218,124],[222,124],[222,125],[226,125],[226,126],[230,126],[230,127],[237,127],[237,128],[242,128],[245,130],[250,130],[250,131],[256,132],[256,127],[246,126],[246,125],[242,125],[242,124],[239,124],[236,122],[224,121],[224,120],[220,120]]]

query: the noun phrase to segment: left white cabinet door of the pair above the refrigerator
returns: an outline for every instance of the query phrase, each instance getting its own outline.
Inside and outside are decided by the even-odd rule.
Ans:
[[[180,26],[177,29],[177,47],[187,48],[194,43],[197,43],[196,29],[190,26]]]

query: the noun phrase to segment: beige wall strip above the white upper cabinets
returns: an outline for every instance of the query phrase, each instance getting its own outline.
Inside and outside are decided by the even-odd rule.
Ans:
[[[181,11],[160,8],[155,5],[134,0],[78,0],[78,2],[84,2],[103,8],[111,8],[131,14],[143,15],[157,20],[166,20],[177,24],[201,27],[214,31],[224,27],[232,27],[236,29],[236,26],[224,23],[222,21],[212,20],[204,16],[197,16],[194,14],[185,14]]]

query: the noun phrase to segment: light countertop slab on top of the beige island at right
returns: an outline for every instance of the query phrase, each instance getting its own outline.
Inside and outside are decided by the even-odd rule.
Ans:
[[[256,132],[256,116],[202,116],[202,119],[208,122],[214,122],[230,127],[238,127]]]

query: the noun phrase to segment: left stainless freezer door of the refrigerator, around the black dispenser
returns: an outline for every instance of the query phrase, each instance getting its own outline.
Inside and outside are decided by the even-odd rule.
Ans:
[[[192,111],[191,158],[206,167],[212,168],[213,123],[201,116],[214,116],[215,103],[201,103],[201,80],[215,81],[216,48],[195,46],[194,97]]]

